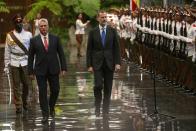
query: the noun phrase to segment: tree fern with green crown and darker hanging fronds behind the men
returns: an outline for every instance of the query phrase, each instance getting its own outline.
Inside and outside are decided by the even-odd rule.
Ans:
[[[100,0],[36,0],[25,17],[33,20],[43,10],[51,12],[52,14],[49,14],[50,31],[60,36],[62,42],[66,43],[68,39],[66,27],[75,24],[77,14],[84,13],[88,17],[93,17],[99,8]]]

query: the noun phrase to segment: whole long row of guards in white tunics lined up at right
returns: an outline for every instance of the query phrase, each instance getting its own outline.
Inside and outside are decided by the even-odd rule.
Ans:
[[[189,8],[112,9],[108,23],[118,31],[123,59],[194,93],[196,18]]]

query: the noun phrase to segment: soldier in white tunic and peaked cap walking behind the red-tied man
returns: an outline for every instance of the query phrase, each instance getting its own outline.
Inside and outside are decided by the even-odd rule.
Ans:
[[[17,114],[22,112],[22,107],[24,111],[27,110],[28,88],[31,86],[27,74],[27,54],[32,34],[22,28],[22,20],[20,14],[13,17],[15,28],[6,36],[4,54],[4,71],[12,76]]]

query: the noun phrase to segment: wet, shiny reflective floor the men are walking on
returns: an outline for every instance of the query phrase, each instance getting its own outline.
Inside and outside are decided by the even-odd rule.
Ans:
[[[42,125],[35,82],[29,97],[30,110],[22,115],[15,114],[13,99],[10,103],[7,77],[3,73],[3,48],[0,48],[0,130],[196,130],[196,98],[156,81],[158,114],[154,114],[151,75],[133,63],[123,63],[122,70],[115,74],[109,118],[97,119],[93,105],[93,76],[86,71],[85,56],[77,58],[76,47],[71,46],[67,52],[67,61],[69,71],[60,79],[61,91],[55,108],[55,121],[50,120],[48,124]]]

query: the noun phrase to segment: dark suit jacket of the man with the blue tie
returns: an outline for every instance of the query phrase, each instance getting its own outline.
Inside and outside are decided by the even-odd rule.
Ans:
[[[94,70],[100,69],[104,60],[107,66],[114,70],[116,64],[121,64],[119,37],[114,28],[107,26],[105,46],[101,41],[99,26],[89,32],[87,45],[87,67]]]

